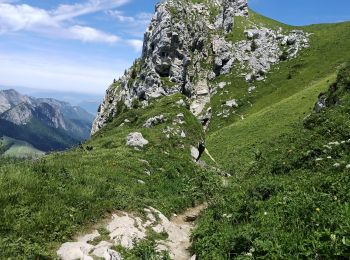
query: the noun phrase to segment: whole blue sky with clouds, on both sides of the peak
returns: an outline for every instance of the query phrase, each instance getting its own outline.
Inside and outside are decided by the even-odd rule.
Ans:
[[[140,56],[158,0],[0,0],[0,86],[102,95]],[[350,20],[349,0],[250,0],[289,24]]]

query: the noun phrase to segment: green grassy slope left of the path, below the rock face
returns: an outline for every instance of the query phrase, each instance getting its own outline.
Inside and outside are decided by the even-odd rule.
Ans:
[[[209,196],[217,180],[190,159],[190,144],[198,143],[203,132],[188,109],[176,105],[181,98],[167,97],[125,112],[72,151],[33,162],[1,163],[0,258],[53,257],[59,243],[108,212],[141,214],[153,206],[169,216]],[[174,126],[180,112],[185,123]],[[167,122],[142,127],[159,114]],[[120,126],[125,119],[130,123]],[[166,138],[167,126],[181,127],[186,138]],[[140,151],[126,146],[134,131],[150,142]]]

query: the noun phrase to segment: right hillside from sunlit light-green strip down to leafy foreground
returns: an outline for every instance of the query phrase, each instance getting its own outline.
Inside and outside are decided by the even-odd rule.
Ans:
[[[210,140],[222,165],[237,171],[224,199],[199,220],[193,238],[200,259],[349,257],[350,65],[305,116],[311,102],[300,101],[325,82],[224,128],[220,138],[229,144]]]

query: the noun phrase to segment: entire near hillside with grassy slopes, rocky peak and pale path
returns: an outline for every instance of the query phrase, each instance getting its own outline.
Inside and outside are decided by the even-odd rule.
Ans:
[[[347,259],[349,27],[162,1],[91,140],[0,159],[0,258],[174,259],[199,205],[193,259]]]

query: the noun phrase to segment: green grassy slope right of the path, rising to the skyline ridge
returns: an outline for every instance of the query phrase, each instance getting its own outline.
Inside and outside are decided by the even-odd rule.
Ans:
[[[200,259],[350,257],[349,67],[337,78],[340,103],[304,120],[350,61],[350,23],[301,29],[313,33],[311,48],[274,68],[257,92],[242,91],[234,74],[218,80],[229,86],[214,111],[237,98],[245,119],[214,117],[207,136],[234,177],[199,220]]]

